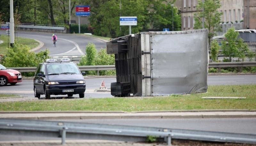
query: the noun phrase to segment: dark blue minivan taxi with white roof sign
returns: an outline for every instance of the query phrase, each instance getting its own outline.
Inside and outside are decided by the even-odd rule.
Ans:
[[[39,63],[34,76],[34,95],[40,98],[45,95],[51,99],[52,95],[73,96],[79,94],[84,97],[85,72],[81,72],[76,63],[69,58],[50,58]]]

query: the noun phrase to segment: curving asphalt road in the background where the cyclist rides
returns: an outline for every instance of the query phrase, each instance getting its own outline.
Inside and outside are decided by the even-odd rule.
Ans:
[[[5,35],[5,31],[1,30],[0,35]],[[29,31],[18,31],[18,37],[35,39],[42,42],[42,47],[35,50],[36,53],[48,49],[50,56],[65,56],[65,55],[84,55],[86,45],[90,42],[95,44],[97,50],[106,48],[106,42],[102,39],[97,39],[88,36],[80,36],[76,34],[59,34],[57,35],[56,47],[53,46],[52,33],[44,32],[29,32]]]

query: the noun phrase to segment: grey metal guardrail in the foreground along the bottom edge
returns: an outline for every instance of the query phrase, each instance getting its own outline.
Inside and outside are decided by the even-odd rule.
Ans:
[[[0,133],[66,138],[146,142],[148,136],[171,145],[173,139],[256,144],[255,134],[208,132],[155,127],[121,126],[107,124],[0,119]]]

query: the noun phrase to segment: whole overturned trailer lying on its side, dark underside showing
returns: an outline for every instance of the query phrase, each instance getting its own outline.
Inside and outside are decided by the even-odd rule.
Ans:
[[[207,29],[126,35],[107,42],[107,53],[115,54],[113,96],[207,91]]]

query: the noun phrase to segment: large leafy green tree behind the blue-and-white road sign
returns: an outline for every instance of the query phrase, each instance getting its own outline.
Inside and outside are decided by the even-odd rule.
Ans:
[[[85,0],[90,5],[90,29],[94,35],[116,38],[128,35],[129,26],[120,26],[120,16],[137,16],[137,26],[132,33],[149,26],[149,5],[154,0]]]

